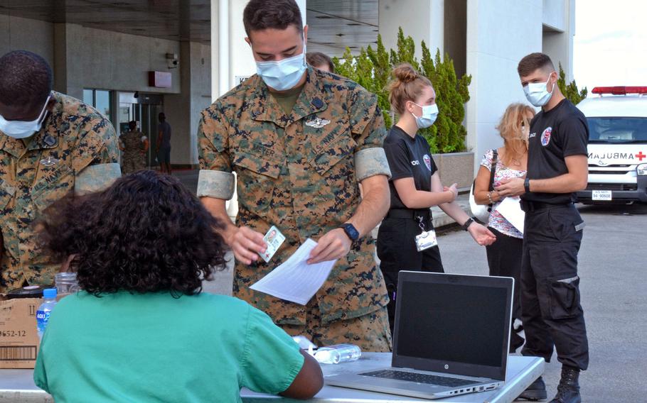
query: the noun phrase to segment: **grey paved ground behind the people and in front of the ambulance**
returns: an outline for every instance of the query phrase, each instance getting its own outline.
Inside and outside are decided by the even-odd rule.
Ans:
[[[195,173],[178,176],[189,186],[197,184]],[[459,201],[467,205],[465,195]],[[579,211],[587,222],[579,275],[591,356],[589,370],[581,377],[583,402],[646,402],[647,206],[579,206]],[[434,211],[437,227],[449,221]],[[485,249],[464,231],[444,227],[439,245],[447,272],[488,273]],[[205,283],[205,290],[229,293],[231,280],[230,270],[220,272]],[[553,356],[544,376],[549,398],[560,368]]]

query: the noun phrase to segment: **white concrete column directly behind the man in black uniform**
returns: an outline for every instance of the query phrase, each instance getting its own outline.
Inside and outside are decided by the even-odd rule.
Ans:
[[[489,148],[503,140],[496,126],[512,102],[526,101],[517,65],[542,50],[542,1],[468,0],[467,74],[472,75],[467,103],[466,145],[474,151],[474,170]]]

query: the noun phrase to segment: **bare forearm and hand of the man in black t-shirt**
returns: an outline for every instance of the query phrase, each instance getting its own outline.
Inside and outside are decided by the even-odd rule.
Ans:
[[[531,179],[530,192],[571,193],[586,189],[589,175],[587,155],[569,155],[564,158],[568,172],[549,179]],[[501,181],[496,190],[502,197],[519,196],[525,193],[523,178]]]

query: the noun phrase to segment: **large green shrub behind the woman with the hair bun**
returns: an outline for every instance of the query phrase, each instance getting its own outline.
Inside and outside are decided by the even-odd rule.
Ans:
[[[456,77],[454,62],[447,53],[441,60],[440,51],[435,57],[422,41],[422,60],[415,57],[415,43],[410,36],[405,37],[402,28],[397,33],[397,49],[386,50],[381,35],[375,50],[368,46],[362,48],[358,56],[351,55],[351,50],[341,57],[334,58],[336,72],[360,84],[368,91],[377,94],[378,104],[384,114],[387,128],[394,123],[394,114],[389,104],[387,84],[391,79],[393,67],[407,62],[415,70],[431,80],[436,90],[436,103],[439,114],[430,128],[421,129],[418,133],[427,138],[432,153],[451,153],[465,150],[467,131],[463,126],[465,117],[464,105],[469,101],[468,88],[471,75]]]

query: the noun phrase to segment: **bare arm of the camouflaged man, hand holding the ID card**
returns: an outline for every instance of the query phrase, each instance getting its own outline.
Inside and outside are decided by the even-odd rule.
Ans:
[[[200,197],[200,201],[211,215],[224,224],[225,228],[219,230],[218,233],[223,236],[225,243],[232,249],[237,260],[245,265],[250,265],[252,261],[260,258],[258,253],[264,253],[267,248],[262,233],[253,231],[246,226],[240,228],[235,226],[227,215],[225,200],[215,197]]]

